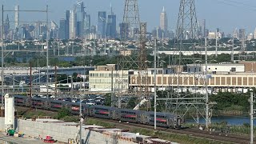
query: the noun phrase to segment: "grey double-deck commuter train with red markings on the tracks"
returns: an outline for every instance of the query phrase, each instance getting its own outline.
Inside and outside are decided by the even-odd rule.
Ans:
[[[42,110],[57,111],[62,108],[69,109],[72,114],[79,114],[80,104],[78,102],[66,102],[47,98],[28,98],[14,96],[15,106],[34,107]],[[82,114],[96,118],[108,118],[123,122],[142,123],[154,125],[154,112],[142,110],[119,109],[110,106],[87,105],[82,103]],[[178,115],[157,112],[157,126],[179,129],[184,119]]]

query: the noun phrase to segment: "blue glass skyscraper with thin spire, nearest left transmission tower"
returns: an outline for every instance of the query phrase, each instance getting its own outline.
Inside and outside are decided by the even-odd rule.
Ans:
[[[112,6],[111,6],[111,12],[110,15],[107,17],[107,23],[106,23],[106,37],[107,38],[115,38],[117,34],[117,17],[113,13]]]

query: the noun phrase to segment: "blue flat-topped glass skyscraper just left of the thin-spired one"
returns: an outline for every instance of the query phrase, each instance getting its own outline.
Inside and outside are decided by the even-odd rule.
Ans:
[[[105,38],[106,35],[106,11],[98,12],[98,34]]]

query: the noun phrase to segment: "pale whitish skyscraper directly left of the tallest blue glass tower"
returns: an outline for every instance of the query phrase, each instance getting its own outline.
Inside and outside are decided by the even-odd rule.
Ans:
[[[70,10],[70,39],[76,38],[77,16],[75,10]]]

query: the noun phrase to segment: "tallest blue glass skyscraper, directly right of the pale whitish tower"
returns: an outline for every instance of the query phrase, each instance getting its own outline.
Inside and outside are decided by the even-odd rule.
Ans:
[[[82,33],[84,33],[84,27],[83,24],[85,24],[85,6],[83,5],[83,2],[78,2],[76,6],[76,12],[77,12],[77,26],[76,26],[76,34],[78,38],[82,38]]]

